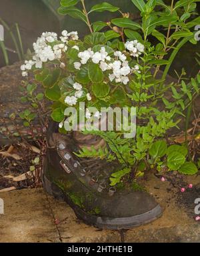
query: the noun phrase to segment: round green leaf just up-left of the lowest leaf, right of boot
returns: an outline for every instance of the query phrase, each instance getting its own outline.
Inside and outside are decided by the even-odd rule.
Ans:
[[[167,157],[167,167],[171,171],[177,171],[185,163],[185,157],[179,152],[172,152]]]

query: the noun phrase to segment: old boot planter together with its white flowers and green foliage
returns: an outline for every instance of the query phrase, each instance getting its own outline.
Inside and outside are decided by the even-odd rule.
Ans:
[[[190,31],[199,23],[199,18],[193,18],[195,1],[171,1],[170,6],[161,0],[130,2],[141,12],[140,23],[109,3],[87,11],[84,0],[62,0],[59,13],[81,19],[91,33],[83,40],[76,31],[63,31],[60,37],[43,33],[33,44],[33,58],[21,66],[23,76],[33,71],[52,101],[55,123],[47,135],[45,187],[54,194],[63,191],[85,222],[111,229],[133,227],[161,214],[145,191],[131,190],[130,184],[145,170],[197,173],[187,146],[167,147],[165,141],[168,131],[178,127],[183,112],[189,113],[199,96],[200,75],[185,82],[182,72],[177,81],[166,83],[179,49],[187,41],[196,43]],[[122,17],[91,24],[89,15],[95,11]],[[159,43],[151,43],[152,36]],[[124,125],[118,129],[123,117],[113,129],[91,130],[83,125],[106,123],[102,108],[109,107],[126,107],[128,113],[135,107],[135,137],[124,136]],[[128,116],[126,121],[128,126],[133,119]],[[69,131],[69,127],[79,131]]]

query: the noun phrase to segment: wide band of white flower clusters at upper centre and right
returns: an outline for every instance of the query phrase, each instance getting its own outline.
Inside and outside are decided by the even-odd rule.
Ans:
[[[139,56],[143,53],[145,47],[141,43],[138,43],[137,40],[135,41],[127,41],[125,43],[125,47],[131,51],[131,55]],[[133,71],[139,71],[139,65],[135,65],[133,69],[129,67],[129,62],[127,61],[127,57],[121,51],[115,51],[114,53],[115,59],[111,59],[108,55],[107,51],[105,51],[105,47],[101,47],[100,51],[93,52],[91,48],[82,51],[78,54],[78,57],[81,59],[80,62],[75,62],[74,67],[75,69],[80,70],[81,64],[86,64],[89,59],[95,64],[99,64],[101,70],[107,71],[112,70],[112,73],[109,74],[110,81],[114,81],[115,83],[123,83],[127,85],[129,82],[128,75],[131,74]]]

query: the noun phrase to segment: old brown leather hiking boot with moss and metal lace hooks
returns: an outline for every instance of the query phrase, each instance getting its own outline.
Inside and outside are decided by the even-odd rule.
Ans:
[[[161,216],[161,207],[145,191],[109,185],[119,163],[80,159],[73,153],[78,151],[71,135],[58,133],[57,123],[49,125],[43,187],[67,201],[79,219],[98,228],[129,229]]]

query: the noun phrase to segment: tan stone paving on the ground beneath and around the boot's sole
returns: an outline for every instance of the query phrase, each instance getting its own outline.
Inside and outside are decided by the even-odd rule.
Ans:
[[[155,195],[163,207],[163,216],[153,223],[125,231],[125,242],[200,242],[200,222],[177,205],[173,197],[175,191],[169,192],[169,183],[161,183],[158,190],[152,187],[152,182],[151,179],[149,193]],[[121,241],[118,231],[101,231],[85,225],[67,203],[57,201],[43,189],[9,191],[0,193],[0,197],[5,204],[5,215],[0,215],[0,242]],[[55,225],[56,219],[58,225]]]

